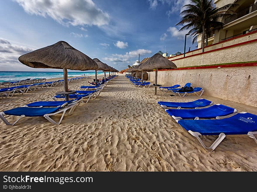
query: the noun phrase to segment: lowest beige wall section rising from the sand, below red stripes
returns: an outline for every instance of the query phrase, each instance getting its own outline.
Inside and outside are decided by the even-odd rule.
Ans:
[[[165,86],[191,82],[210,95],[257,107],[257,67],[158,71],[157,83]],[[250,75],[250,76],[249,76]],[[148,73],[154,82],[155,72]]]

